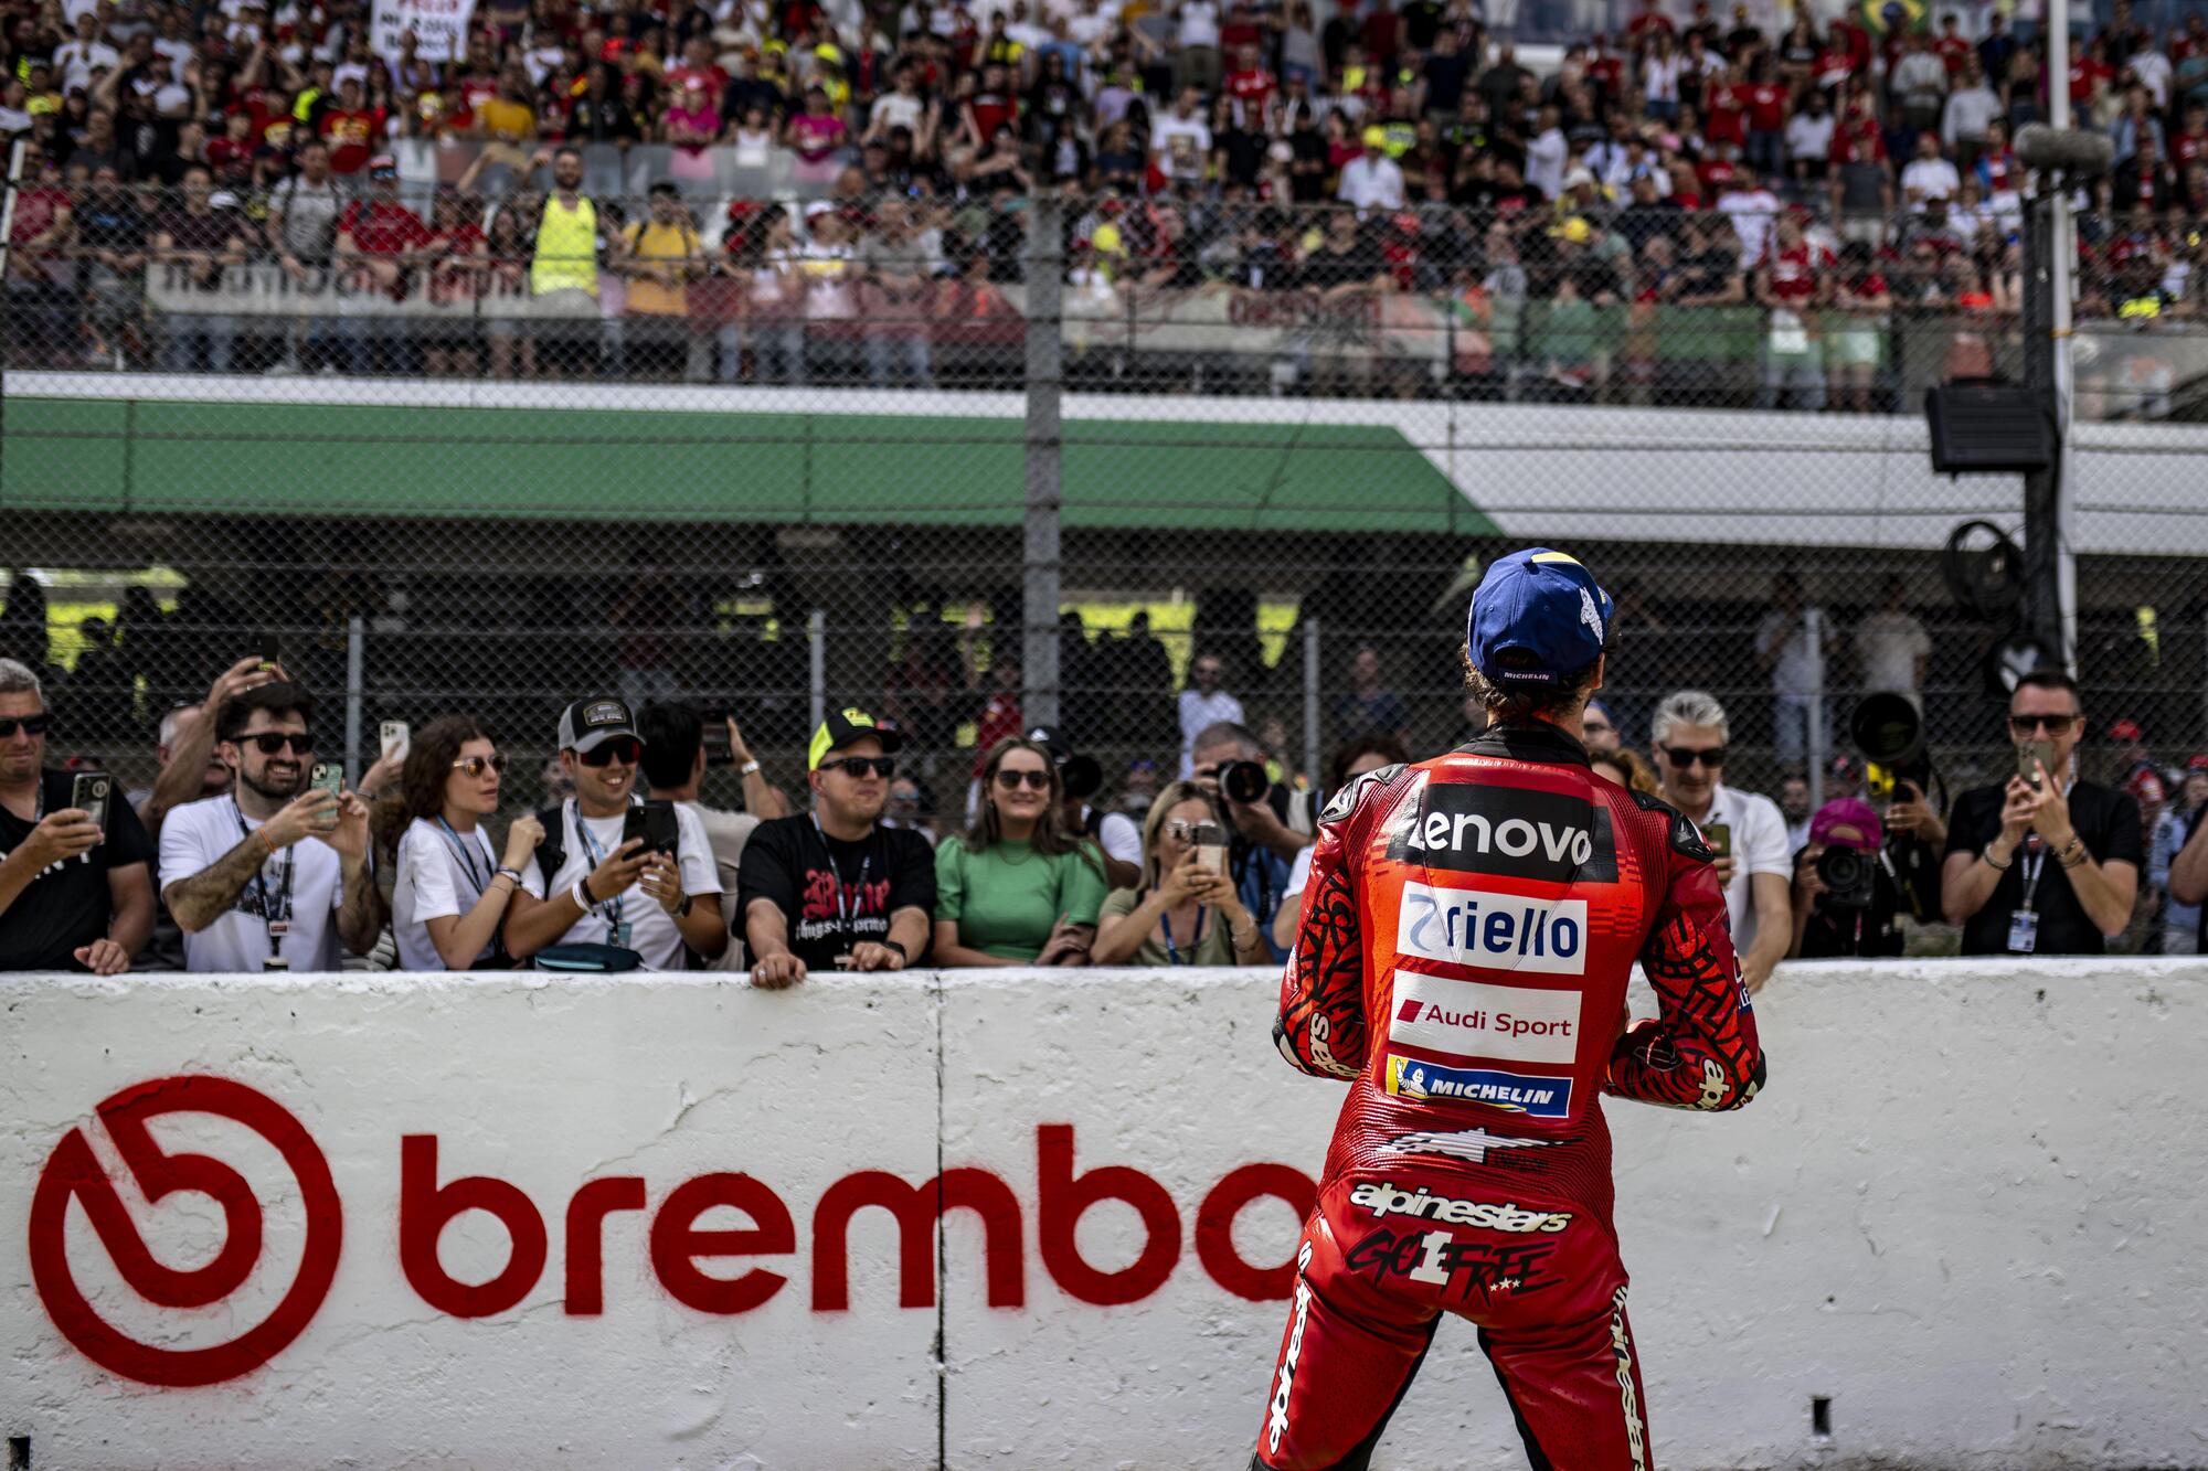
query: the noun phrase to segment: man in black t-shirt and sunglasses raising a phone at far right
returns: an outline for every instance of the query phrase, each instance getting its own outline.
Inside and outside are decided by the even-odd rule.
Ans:
[[[2106,954],[2140,895],[2140,804],[2080,782],[2078,682],[2034,669],[2009,696],[2016,773],[1954,802],[1941,908],[1963,954]]]

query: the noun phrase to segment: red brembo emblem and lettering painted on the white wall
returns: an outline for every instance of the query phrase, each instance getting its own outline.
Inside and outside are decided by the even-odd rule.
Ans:
[[[243,1334],[208,1347],[146,1343],[106,1321],[77,1283],[68,1261],[71,1202],[115,1263],[121,1285],[155,1310],[205,1310],[238,1292],[263,1257],[263,1202],[234,1166],[203,1153],[163,1153],[148,1122],[168,1113],[203,1113],[258,1133],[296,1179],[305,1208],[305,1246],[298,1274],[276,1308]],[[110,1175],[82,1129],[53,1146],[31,1197],[31,1279],[53,1325],[86,1358],[148,1385],[216,1385],[258,1369],[314,1321],[329,1297],[344,1248],[344,1204],[322,1149],[280,1102],[230,1078],[155,1078],[104,1100],[95,1115],[113,1142],[119,1171]],[[433,1133],[402,1135],[391,1151],[397,1171],[397,1268],[406,1288],[428,1308],[453,1319],[495,1316],[519,1305],[543,1279],[552,1259],[548,1215],[508,1179],[461,1175],[439,1182],[439,1144]],[[128,1182],[121,1177],[128,1175]],[[163,1266],[124,1206],[128,1184],[152,1206],[177,1193],[199,1193],[221,1208],[223,1244],[210,1261],[179,1270]],[[1248,1261],[1234,1246],[1234,1219],[1259,1199],[1285,1202],[1296,1219],[1312,1210],[1316,1186],[1287,1164],[1243,1164],[1228,1171],[1197,1204],[1195,1255],[1225,1292],[1250,1301],[1287,1299],[1294,1261]],[[386,1197],[389,1199],[389,1197]],[[1104,1270],[1075,1244],[1080,1219],[1104,1202],[1130,1206],[1142,1219],[1135,1261]],[[733,1206],[746,1228],[704,1228],[700,1217]],[[289,1208],[289,1206],[287,1206]],[[506,1263],[486,1281],[455,1279],[437,1257],[444,1228],[468,1210],[499,1219],[508,1235]],[[850,1310],[850,1221],[859,1210],[888,1210],[899,1226],[896,1305],[936,1303],[936,1219],[969,1210],[983,1226],[983,1292],[991,1308],[1027,1303],[1027,1215],[1013,1188],[994,1171],[945,1168],[912,1184],[888,1171],[854,1171],[832,1182],[810,1215],[810,1308]],[[605,1301],[605,1221],[618,1213],[649,1213],[651,1290],[711,1314],[740,1314],[766,1305],[788,1285],[799,1255],[797,1217],[766,1182],[742,1173],[704,1173],[673,1182],[654,1204],[640,1175],[581,1182],[554,1215],[563,1230],[561,1285],[567,1316],[596,1316]],[[369,1230],[367,1239],[391,1239]],[[1294,1237],[1285,1237],[1292,1244]],[[1181,1261],[1181,1206],[1150,1175],[1106,1164],[1078,1171],[1073,1126],[1036,1126],[1033,1246],[1042,1270],[1078,1303],[1135,1303],[1172,1277]],[[715,1263],[704,1270],[700,1263]],[[742,1270],[733,1270],[740,1263]]]

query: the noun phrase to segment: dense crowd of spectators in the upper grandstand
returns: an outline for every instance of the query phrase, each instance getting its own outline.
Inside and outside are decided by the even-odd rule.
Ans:
[[[1733,307],[1764,402],[1861,409],[1910,314],[1987,318],[1941,373],[2000,367],[2011,137],[2049,80],[2036,38],[1983,15],[1773,35],[1641,0],[1537,73],[1473,0],[539,0],[481,7],[448,62],[413,35],[378,55],[362,4],[22,4],[11,353],[925,384],[930,345],[1016,342],[1025,201],[1055,186],[1075,309],[1294,292],[1369,322],[1429,294],[1471,338],[1440,378],[1524,351],[1532,311],[1535,373],[1570,393],[1610,358],[1654,371],[1634,331],[1669,309]],[[2117,159],[2080,225],[2080,314],[2190,316],[2208,31],[2153,35],[2117,0],[2067,86]],[[773,197],[724,199],[753,177]],[[349,300],[530,311],[393,329],[325,294],[272,327],[221,294],[256,267],[302,296],[333,274]],[[177,287],[159,318],[148,272]]]

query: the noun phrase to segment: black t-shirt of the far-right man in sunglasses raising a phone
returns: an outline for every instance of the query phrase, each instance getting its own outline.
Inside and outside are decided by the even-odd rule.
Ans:
[[[2005,786],[1976,786],[1954,800],[1954,815],[1947,819],[1947,853],[1978,853],[2000,837],[2000,806],[2007,800]],[[2093,861],[2111,859],[2137,868],[2144,859],[2140,839],[2140,804],[2129,793],[2111,791],[2095,782],[2071,786],[2071,826],[2084,839],[2084,850]],[[2047,844],[2027,839],[2000,875],[1994,895],[1963,923],[1963,954],[2009,954],[2009,919],[2023,908],[2025,875],[2038,868],[2038,888],[2031,899],[2040,917],[2034,954],[2106,954],[2109,941],[2087,919],[2078,895],[2069,886],[2069,872]]]

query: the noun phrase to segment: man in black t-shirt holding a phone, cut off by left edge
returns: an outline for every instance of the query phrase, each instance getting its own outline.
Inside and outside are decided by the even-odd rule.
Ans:
[[[104,771],[46,771],[46,727],[38,676],[0,658],[0,970],[113,976],[152,934],[152,839]]]

